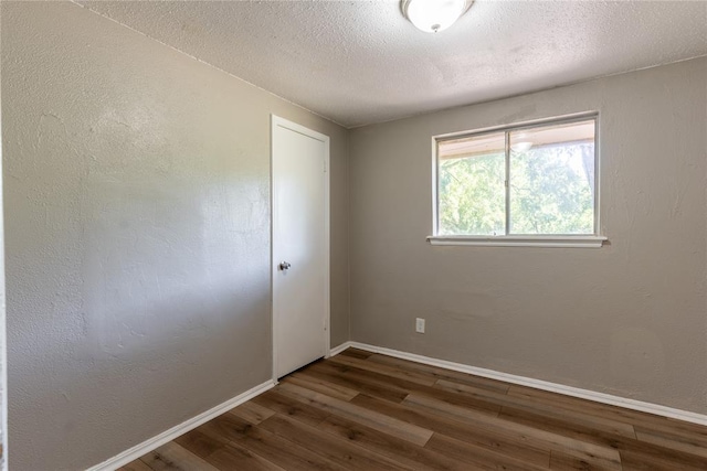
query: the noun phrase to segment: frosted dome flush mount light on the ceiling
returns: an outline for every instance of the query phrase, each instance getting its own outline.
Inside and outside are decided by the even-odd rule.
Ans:
[[[436,33],[450,28],[474,0],[402,0],[402,14],[419,30]]]

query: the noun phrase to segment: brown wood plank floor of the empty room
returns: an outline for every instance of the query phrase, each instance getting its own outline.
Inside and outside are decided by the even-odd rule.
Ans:
[[[707,427],[349,349],[123,468],[707,470]]]

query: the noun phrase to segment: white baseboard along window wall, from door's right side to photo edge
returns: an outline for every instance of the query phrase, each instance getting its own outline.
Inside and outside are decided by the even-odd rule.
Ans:
[[[397,358],[410,360],[411,362],[423,363],[441,368],[453,370],[456,372],[468,373],[476,376],[483,376],[492,379],[499,379],[506,383],[518,384],[521,386],[535,387],[536,389],[549,390],[552,393],[563,394],[566,396],[580,397],[597,403],[609,404],[611,406],[625,407],[626,409],[640,410],[642,413],[655,414],[657,416],[669,417],[673,419],[684,420],[687,422],[707,425],[707,415],[690,413],[688,410],[674,409],[672,407],[661,406],[657,404],[644,403],[641,400],[629,399],[625,397],[613,396],[611,394],[595,393],[579,387],[566,386],[562,384],[550,383],[541,379],[532,379],[525,376],[500,373],[493,370],[479,368],[476,366],[464,365],[462,363],[447,362],[446,360],[432,358],[430,356],[416,355],[414,353],[401,352],[398,350],[386,349],[382,346],[369,345],[359,342],[346,342],[335,349],[331,349],[329,356],[334,356],[348,347],[366,350],[368,352],[381,353],[383,355],[394,356]]]

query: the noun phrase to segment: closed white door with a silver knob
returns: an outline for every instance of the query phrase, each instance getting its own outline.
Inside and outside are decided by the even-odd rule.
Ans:
[[[328,352],[329,138],[273,116],[274,375]]]

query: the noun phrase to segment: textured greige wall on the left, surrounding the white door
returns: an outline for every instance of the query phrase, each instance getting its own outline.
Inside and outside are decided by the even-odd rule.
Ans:
[[[347,131],[73,3],[2,2],[10,468],[96,464],[271,377],[270,114]]]

